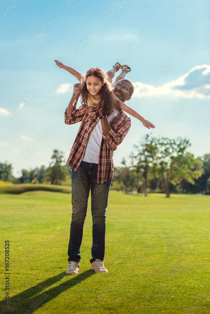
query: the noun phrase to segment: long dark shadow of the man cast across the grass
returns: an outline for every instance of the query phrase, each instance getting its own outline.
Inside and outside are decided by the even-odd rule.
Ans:
[[[9,298],[9,313],[15,314],[31,314],[36,311],[40,306],[53,300],[56,298],[60,293],[64,292],[75,286],[76,284],[80,283],[83,280],[86,280],[88,277],[94,275],[95,272],[89,269],[86,270],[84,273],[78,275],[69,275],[66,273],[61,273],[54,277],[51,277],[36,286],[33,286],[18,295],[14,295],[13,297]],[[63,279],[64,277],[69,276],[68,281],[56,286],[54,288],[49,289],[46,292],[41,291],[45,290],[46,288],[50,287],[51,285],[55,284],[59,280]],[[6,292],[6,291],[5,291]],[[37,295],[38,294],[38,295]],[[6,296],[6,293],[5,293]],[[4,308],[4,300],[0,302],[0,308],[3,310],[1,313],[7,313],[8,310]]]

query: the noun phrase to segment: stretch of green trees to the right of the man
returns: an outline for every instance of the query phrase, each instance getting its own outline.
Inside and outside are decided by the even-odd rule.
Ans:
[[[134,145],[123,167],[114,168],[112,188],[132,193],[210,192],[210,154],[195,158],[196,143],[186,138],[155,138],[146,135],[144,141]]]

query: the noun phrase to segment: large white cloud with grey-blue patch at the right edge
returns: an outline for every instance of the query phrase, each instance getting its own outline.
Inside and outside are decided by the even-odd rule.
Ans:
[[[135,82],[133,97],[151,97],[171,95],[172,97],[210,98],[210,66],[196,65],[175,81],[155,87],[142,82]]]

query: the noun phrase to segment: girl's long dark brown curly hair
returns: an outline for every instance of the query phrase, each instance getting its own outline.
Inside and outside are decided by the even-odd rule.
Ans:
[[[89,92],[86,84],[88,76],[95,76],[102,82],[98,110],[101,108],[103,115],[110,116],[113,111],[116,98],[113,94],[113,86],[107,80],[105,72],[100,68],[89,69],[86,75],[83,77],[83,82],[80,88],[82,106],[88,107]]]

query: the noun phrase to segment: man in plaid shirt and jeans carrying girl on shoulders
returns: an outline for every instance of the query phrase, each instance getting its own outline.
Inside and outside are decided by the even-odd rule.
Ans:
[[[115,89],[117,98],[122,101],[128,100],[127,98],[130,99],[133,93],[133,84],[129,84],[128,80],[122,80],[118,83],[119,87]],[[128,89],[130,95],[122,89]],[[116,115],[109,116],[108,119],[100,116],[97,104],[94,104],[95,107],[89,107],[88,110],[82,106],[76,109],[79,95],[79,84],[77,83],[74,85],[72,98],[65,111],[66,124],[82,121],[67,161],[72,169],[72,219],[66,273],[78,273],[79,270],[80,246],[90,190],[93,219],[93,245],[90,263],[95,272],[107,273],[108,270],[103,263],[105,255],[105,213],[113,177],[112,156],[113,151],[122,143],[123,138],[128,133],[131,119],[124,111],[120,110],[116,112]],[[99,121],[101,121],[102,134],[99,134],[98,131],[99,125],[97,124]],[[94,162],[87,162],[85,160],[89,160],[90,147],[93,151],[95,145],[97,151],[97,138],[100,140],[98,163],[94,160]],[[94,157],[91,158],[94,159]]]

